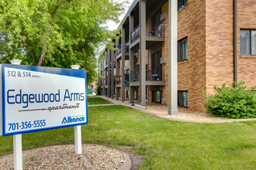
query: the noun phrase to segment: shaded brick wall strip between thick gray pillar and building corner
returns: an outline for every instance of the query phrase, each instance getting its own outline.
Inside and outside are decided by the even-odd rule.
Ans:
[[[206,111],[206,3],[189,0],[178,12],[178,40],[188,37],[188,60],[178,62],[178,90],[189,91],[188,110]]]

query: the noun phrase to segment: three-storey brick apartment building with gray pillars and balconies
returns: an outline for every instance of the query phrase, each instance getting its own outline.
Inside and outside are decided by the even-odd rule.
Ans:
[[[206,112],[202,90],[255,86],[255,12],[256,0],[134,0],[100,63],[102,95],[178,114]]]

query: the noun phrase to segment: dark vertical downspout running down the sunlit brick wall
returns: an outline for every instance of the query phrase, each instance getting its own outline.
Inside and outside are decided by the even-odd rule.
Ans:
[[[237,0],[234,0],[234,82],[237,83]]]

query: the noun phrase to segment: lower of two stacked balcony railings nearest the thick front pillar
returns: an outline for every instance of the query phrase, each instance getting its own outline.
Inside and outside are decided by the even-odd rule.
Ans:
[[[155,68],[154,70],[146,71],[146,80],[149,81],[162,81],[164,80],[164,70],[161,66]]]

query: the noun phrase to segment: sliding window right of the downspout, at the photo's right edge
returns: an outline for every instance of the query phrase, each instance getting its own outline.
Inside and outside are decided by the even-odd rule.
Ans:
[[[240,54],[256,55],[256,30],[240,30]]]

